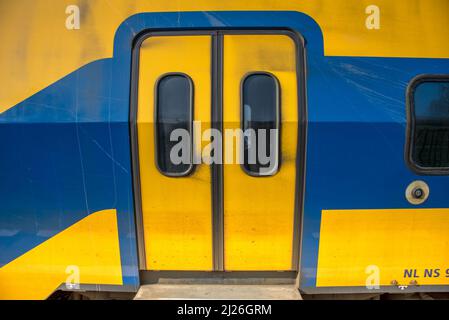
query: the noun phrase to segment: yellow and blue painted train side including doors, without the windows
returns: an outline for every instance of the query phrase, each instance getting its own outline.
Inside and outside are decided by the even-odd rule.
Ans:
[[[448,12],[445,0],[3,1],[0,298],[66,283],[133,292],[140,270],[447,292],[444,154],[429,171],[407,150],[420,81],[448,81]],[[278,172],[161,174],[158,79],[187,74],[193,118],[223,129],[239,127],[254,71],[280,87]],[[406,191],[420,181],[416,203]]]

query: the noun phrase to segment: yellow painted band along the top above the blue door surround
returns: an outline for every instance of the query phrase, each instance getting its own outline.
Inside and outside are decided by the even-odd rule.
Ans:
[[[380,9],[378,30],[365,26],[373,4]],[[65,27],[69,5],[80,8],[79,30]],[[447,0],[0,1],[0,112],[111,57],[117,28],[134,14],[223,10],[303,12],[319,24],[328,56],[449,58]]]

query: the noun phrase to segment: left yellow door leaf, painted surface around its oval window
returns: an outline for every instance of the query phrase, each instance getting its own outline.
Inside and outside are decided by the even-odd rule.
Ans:
[[[189,75],[194,86],[194,120],[210,128],[211,37],[155,36],[142,43],[139,66],[138,141],[147,268],[211,270],[211,176],[196,165],[187,177],[162,175],[155,164],[154,88],[168,72]],[[203,145],[206,143],[204,142]],[[201,145],[195,152],[201,154]]]

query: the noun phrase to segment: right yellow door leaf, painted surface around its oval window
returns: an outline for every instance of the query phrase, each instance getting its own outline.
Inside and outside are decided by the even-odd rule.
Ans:
[[[270,72],[279,80],[282,122],[276,175],[251,177],[239,164],[224,165],[226,270],[292,268],[298,126],[295,55],[294,41],[285,35],[224,36],[224,128],[240,128],[240,82],[252,71]],[[234,144],[234,155],[237,152]]]

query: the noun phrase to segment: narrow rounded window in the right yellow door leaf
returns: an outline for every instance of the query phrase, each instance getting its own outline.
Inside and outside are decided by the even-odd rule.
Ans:
[[[279,96],[279,82],[271,74],[254,72],[242,81],[242,167],[251,176],[271,176],[278,171]]]

